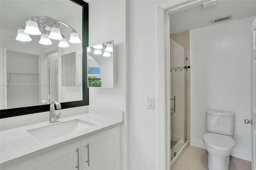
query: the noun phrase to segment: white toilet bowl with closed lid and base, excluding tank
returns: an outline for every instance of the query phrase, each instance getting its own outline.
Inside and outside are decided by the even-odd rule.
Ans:
[[[229,155],[235,146],[234,140],[230,136],[207,132],[203,142],[208,151],[208,169],[228,170]]]

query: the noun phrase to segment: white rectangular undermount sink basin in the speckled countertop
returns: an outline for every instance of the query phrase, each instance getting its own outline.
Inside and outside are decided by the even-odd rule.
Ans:
[[[35,128],[31,130],[27,130],[32,136],[37,138],[40,141],[48,140],[51,138],[55,138],[58,136],[62,136],[64,134],[76,132],[78,130],[82,130],[85,128],[89,128],[94,126],[95,124],[82,121],[80,119],[75,119],[72,121],[66,121],[66,122],[61,122],[53,125],[49,125],[46,127],[40,127],[40,128]]]

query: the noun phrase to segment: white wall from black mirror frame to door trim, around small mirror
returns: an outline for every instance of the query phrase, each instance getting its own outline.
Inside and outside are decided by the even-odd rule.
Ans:
[[[162,1],[89,1],[89,45],[114,40],[117,47],[115,88],[91,88],[89,101],[90,105],[125,112],[124,127],[127,126],[128,129],[127,138],[122,136],[122,144],[124,146],[127,142],[128,148],[126,153],[126,148],[122,147],[122,156],[128,158],[122,158],[123,162],[124,159],[127,160],[127,166],[122,165],[123,168],[127,167],[124,169],[158,169],[157,105],[154,110],[146,109],[146,97],[155,97],[157,101],[156,4],[160,2]]]

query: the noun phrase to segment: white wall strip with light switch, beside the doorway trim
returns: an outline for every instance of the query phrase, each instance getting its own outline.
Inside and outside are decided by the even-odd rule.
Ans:
[[[130,12],[130,162],[132,170],[158,169],[157,20],[161,1],[131,0]],[[164,83],[164,82],[163,82]],[[155,97],[155,109],[146,97]],[[162,113],[164,114],[164,113]]]

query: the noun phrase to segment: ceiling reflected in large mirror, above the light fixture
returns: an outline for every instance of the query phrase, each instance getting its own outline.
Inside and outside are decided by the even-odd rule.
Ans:
[[[0,27],[17,31],[30,16],[50,16],[64,21],[81,9],[70,0],[0,0]]]

